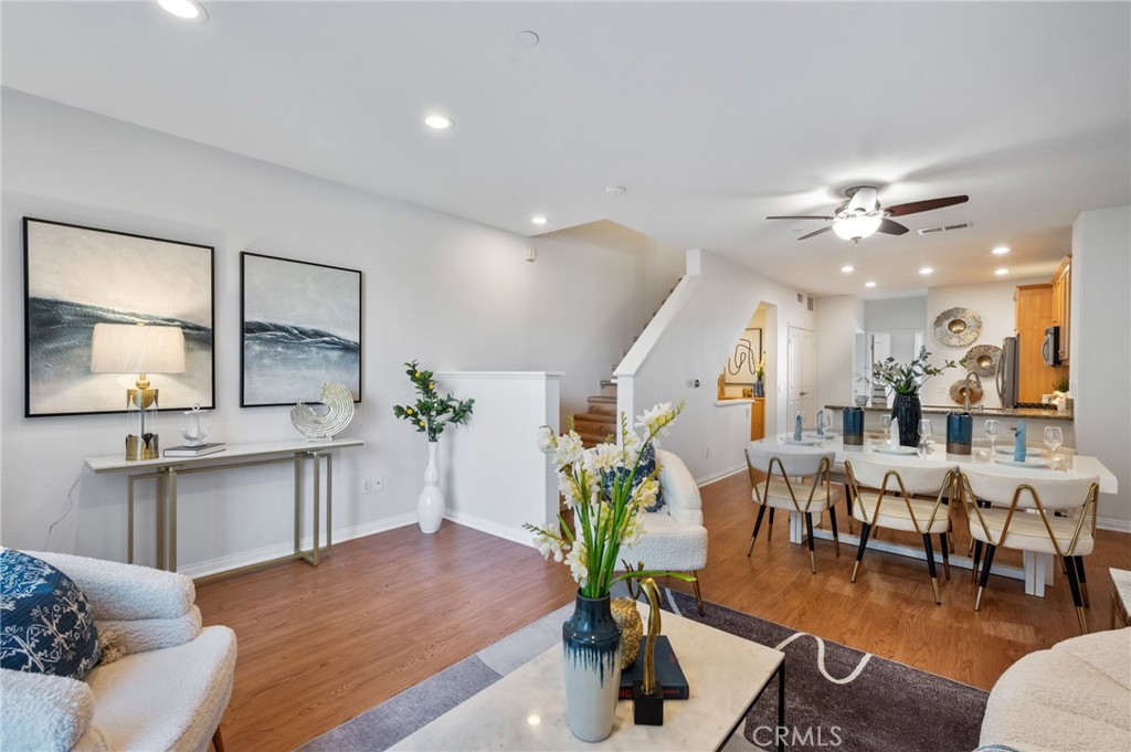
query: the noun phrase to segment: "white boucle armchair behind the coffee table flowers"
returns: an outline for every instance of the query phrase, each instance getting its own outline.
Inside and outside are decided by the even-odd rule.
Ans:
[[[659,489],[664,505],[645,512],[640,541],[621,548],[621,559],[645,569],[691,572],[696,580],[696,605],[703,613],[699,590],[699,570],[707,565],[707,528],[703,527],[702,498],[683,460],[670,451],[656,450]]]

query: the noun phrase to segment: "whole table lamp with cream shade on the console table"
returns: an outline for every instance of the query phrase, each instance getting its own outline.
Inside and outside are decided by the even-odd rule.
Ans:
[[[130,432],[126,436],[126,459],[157,459],[157,390],[149,387],[149,373],[184,371],[184,332],[180,327],[132,323],[96,323],[90,343],[90,371],[136,373],[133,389],[126,390],[126,413]]]

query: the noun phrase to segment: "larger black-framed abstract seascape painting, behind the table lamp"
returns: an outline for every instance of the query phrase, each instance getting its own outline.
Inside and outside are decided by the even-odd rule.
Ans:
[[[215,407],[214,247],[35,217],[23,224],[26,417],[126,412],[128,378],[90,372],[100,322],[180,326],[185,371],[152,379],[161,409]]]

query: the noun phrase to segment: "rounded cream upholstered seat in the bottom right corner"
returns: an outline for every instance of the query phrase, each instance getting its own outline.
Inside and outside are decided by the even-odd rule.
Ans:
[[[1030,652],[994,684],[982,746],[1025,752],[1131,750],[1131,628]]]

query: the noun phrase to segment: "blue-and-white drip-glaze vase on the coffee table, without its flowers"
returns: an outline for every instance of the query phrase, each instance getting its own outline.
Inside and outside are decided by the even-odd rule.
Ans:
[[[613,733],[621,685],[621,631],[613,621],[610,596],[586,598],[580,591],[573,615],[562,624],[562,674],[566,717],[584,742]]]

